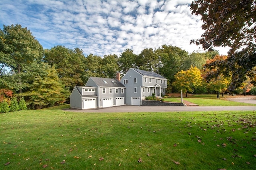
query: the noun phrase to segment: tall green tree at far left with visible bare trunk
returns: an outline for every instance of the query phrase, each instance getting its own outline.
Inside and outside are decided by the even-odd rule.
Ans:
[[[0,29],[0,65],[6,66],[16,74],[16,88],[22,93],[25,87],[21,74],[23,66],[33,61],[41,61],[43,47],[35,39],[30,30],[22,28],[20,24],[3,26]],[[24,77],[24,76],[23,76]]]

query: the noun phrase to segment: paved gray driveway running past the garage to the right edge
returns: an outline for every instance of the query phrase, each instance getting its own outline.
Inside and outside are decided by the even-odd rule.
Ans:
[[[85,113],[114,113],[114,112],[172,112],[172,111],[254,111],[256,106],[115,106],[96,109],[64,109]]]

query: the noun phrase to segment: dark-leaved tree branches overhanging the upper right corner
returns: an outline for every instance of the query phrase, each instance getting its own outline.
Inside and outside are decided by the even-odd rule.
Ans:
[[[246,76],[254,76],[256,66],[256,2],[255,0],[195,0],[190,9],[192,14],[202,16],[202,38],[191,43],[204,49],[229,47],[228,59],[206,64],[218,67],[220,75],[232,74],[230,90],[239,87]]]

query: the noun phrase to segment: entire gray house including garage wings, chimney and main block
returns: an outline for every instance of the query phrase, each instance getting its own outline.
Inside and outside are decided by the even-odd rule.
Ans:
[[[141,105],[146,96],[165,95],[167,79],[154,72],[130,68],[120,80],[112,78],[90,77],[85,86],[75,86],[70,95],[70,107],[91,109],[96,107],[112,107]]]

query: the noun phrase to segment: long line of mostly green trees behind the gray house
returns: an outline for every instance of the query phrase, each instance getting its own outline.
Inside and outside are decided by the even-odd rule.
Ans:
[[[171,84],[178,79],[178,72],[190,68],[202,70],[215,56],[219,56],[218,51],[189,54],[172,45],[144,49],[139,54],[126,49],[119,55],[84,56],[79,48],[57,45],[43,49],[27,28],[4,25],[0,29],[0,89],[11,90],[17,101],[26,100],[30,109],[40,109],[69,103],[74,86],[84,85],[90,76],[115,78],[116,72],[125,74],[133,67],[161,74],[168,79],[167,92],[176,92],[181,90],[180,85]],[[186,92],[194,92],[198,87]],[[208,92],[203,89],[198,92]],[[0,102],[11,106],[7,100],[10,96],[0,95]]]

